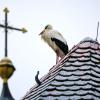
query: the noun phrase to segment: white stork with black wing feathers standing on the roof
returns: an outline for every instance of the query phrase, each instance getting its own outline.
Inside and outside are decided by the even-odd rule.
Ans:
[[[59,58],[63,58],[68,53],[68,45],[64,37],[51,25],[46,25],[44,30],[39,34],[41,38],[55,51],[56,64]]]

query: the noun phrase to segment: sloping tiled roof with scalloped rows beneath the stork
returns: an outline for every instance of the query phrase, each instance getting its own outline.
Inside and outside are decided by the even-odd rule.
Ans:
[[[100,100],[100,44],[85,38],[22,100]]]

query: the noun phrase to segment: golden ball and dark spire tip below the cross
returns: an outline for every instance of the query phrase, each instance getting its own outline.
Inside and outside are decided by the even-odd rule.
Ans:
[[[5,57],[0,61],[0,77],[3,79],[0,100],[14,100],[8,87],[8,79],[13,75],[14,71],[15,68],[10,59]]]

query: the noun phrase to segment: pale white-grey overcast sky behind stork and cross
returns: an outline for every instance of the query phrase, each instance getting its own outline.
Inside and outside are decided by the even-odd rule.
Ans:
[[[38,35],[45,25],[51,24],[61,32],[70,49],[85,37],[96,38],[100,0],[0,0],[1,24],[5,7],[10,10],[9,25],[28,30],[26,34],[10,30],[8,36],[8,57],[16,68],[9,79],[9,88],[16,100],[35,84],[38,70],[42,77],[56,62],[55,53]],[[3,57],[4,30],[0,28],[0,59]],[[0,93],[1,90],[0,79]]]

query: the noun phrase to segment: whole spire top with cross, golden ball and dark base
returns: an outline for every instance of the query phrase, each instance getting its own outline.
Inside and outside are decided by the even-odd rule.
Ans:
[[[5,8],[4,13],[5,13],[5,23],[4,25],[0,24],[0,27],[4,28],[5,30],[5,57],[0,61],[0,77],[3,79],[3,88],[0,100],[14,100],[8,87],[8,79],[13,75],[15,71],[12,61],[8,58],[8,29],[21,31],[23,33],[27,32],[27,30],[25,28],[19,29],[9,26],[8,25],[9,10]]]

